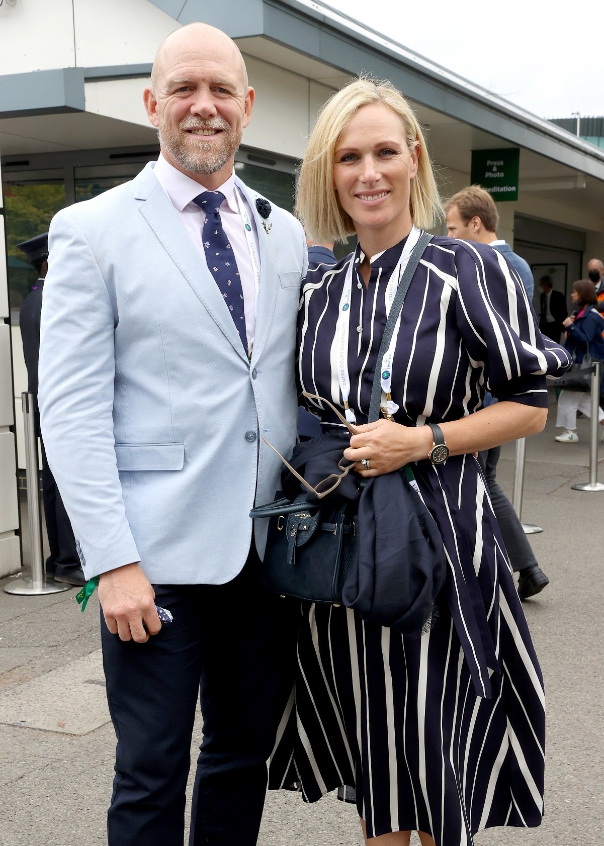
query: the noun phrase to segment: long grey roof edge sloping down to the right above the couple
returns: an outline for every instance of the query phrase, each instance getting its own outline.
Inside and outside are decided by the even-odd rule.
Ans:
[[[323,3],[315,0],[150,2],[180,24],[203,20],[217,26],[238,42],[242,52],[282,67],[295,69],[291,54],[314,60],[318,64],[314,69],[316,75],[312,62],[306,66],[310,79],[328,85],[339,85],[343,78],[364,72],[392,80],[417,104],[480,128],[508,141],[510,146],[523,147],[604,180],[604,151]],[[284,60],[288,63],[283,63]]]

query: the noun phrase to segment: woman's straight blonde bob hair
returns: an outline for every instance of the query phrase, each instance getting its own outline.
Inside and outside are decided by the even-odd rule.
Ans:
[[[306,234],[318,244],[344,242],[355,232],[333,188],[333,164],[338,139],[354,114],[371,103],[382,102],[404,124],[407,146],[417,146],[418,168],[411,180],[410,210],[416,226],[431,229],[444,217],[426,141],[409,103],[391,82],[360,78],[329,98],[321,108],[310,134],[296,191],[296,211]]]

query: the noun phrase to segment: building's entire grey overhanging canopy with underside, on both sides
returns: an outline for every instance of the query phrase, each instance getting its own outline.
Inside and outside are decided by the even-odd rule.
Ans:
[[[472,150],[519,146],[522,194],[541,201],[546,196],[548,203],[576,209],[578,226],[601,228],[603,150],[321,3],[148,2],[170,15],[175,25],[202,19],[232,36],[244,54],[320,85],[338,88],[364,72],[392,80],[409,97],[426,127],[443,194],[450,193],[453,174],[448,171],[469,173]],[[128,80],[140,86],[150,72],[148,63],[3,77],[0,145],[5,161],[11,154],[154,144],[156,133],[146,125],[144,114],[132,117],[130,108],[120,110],[110,102],[117,86],[129,85]],[[105,94],[109,107],[91,105],[95,83],[115,86],[111,94]],[[124,87],[119,91],[125,91]],[[115,102],[119,98],[113,94]],[[124,103],[127,100],[124,97]],[[303,145],[300,154],[302,150]]]

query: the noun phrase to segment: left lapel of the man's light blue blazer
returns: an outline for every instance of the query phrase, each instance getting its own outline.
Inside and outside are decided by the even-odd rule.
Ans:
[[[189,233],[178,219],[166,192],[153,175],[148,164],[134,180],[135,198],[143,201],[140,213],[170,256],[178,270],[183,274],[195,296],[200,300],[211,318],[216,322],[225,338],[247,362],[247,355],[239,338],[239,332],[233,323],[217,283],[207,269],[206,262],[195,249]],[[264,230],[263,230],[264,231]],[[262,261],[262,257],[261,257]]]

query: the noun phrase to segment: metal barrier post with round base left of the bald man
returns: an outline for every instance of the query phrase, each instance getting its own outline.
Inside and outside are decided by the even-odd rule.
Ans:
[[[31,579],[11,579],[4,591],[17,596],[42,596],[47,593],[69,591],[71,585],[47,580],[42,552],[42,523],[40,508],[40,470],[38,467],[38,438],[36,434],[36,400],[33,393],[21,394],[25,430],[25,475],[27,480],[27,509],[30,518]]]

